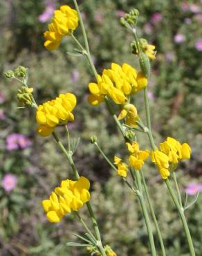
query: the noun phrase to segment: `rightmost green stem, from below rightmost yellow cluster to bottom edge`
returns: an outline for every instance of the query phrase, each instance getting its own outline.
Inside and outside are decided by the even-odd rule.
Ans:
[[[167,189],[169,190],[169,194],[171,194],[172,196],[172,200],[174,201],[174,204],[176,205],[176,208],[178,210],[178,213],[181,217],[181,221],[183,223],[183,228],[184,228],[184,231],[185,231],[185,236],[187,237],[187,242],[188,242],[188,245],[189,245],[189,248],[190,248],[190,255],[191,256],[195,256],[195,251],[194,251],[194,245],[193,245],[193,242],[192,242],[192,237],[190,235],[190,230],[189,230],[189,227],[187,225],[187,220],[185,218],[185,214],[184,214],[184,209],[181,207],[181,205],[178,203],[178,199],[176,198],[176,195],[172,189],[172,186],[169,182],[169,179],[166,179],[165,180],[165,183],[167,185]]]

